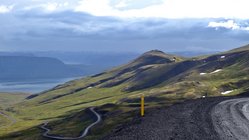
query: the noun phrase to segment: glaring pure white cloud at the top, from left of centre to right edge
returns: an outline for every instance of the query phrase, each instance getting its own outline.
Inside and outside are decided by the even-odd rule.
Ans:
[[[75,11],[117,17],[249,18],[248,0],[161,0],[149,5],[146,5],[147,0],[137,1],[81,0]]]

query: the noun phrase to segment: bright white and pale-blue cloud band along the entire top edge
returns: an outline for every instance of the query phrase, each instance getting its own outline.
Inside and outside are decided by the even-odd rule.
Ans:
[[[1,2],[0,11],[11,9],[4,5],[15,3],[15,11],[42,12],[77,11],[95,16],[121,18],[236,18],[249,19],[248,0],[11,0]],[[16,10],[16,6],[19,10]]]

